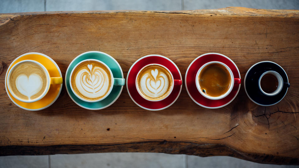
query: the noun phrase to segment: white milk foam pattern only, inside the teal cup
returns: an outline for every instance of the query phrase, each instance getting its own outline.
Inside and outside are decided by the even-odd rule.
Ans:
[[[92,64],[77,73],[75,84],[80,94],[88,98],[104,96],[110,88],[107,72]]]

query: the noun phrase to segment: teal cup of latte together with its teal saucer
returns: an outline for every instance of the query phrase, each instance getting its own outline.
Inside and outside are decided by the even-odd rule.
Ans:
[[[65,76],[69,96],[79,106],[99,110],[116,101],[125,85],[121,67],[110,55],[99,51],[80,54]]]

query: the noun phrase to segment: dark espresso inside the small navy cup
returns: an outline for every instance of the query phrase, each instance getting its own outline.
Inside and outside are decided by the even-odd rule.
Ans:
[[[276,91],[278,87],[278,80],[273,74],[266,74],[261,79],[261,88],[266,93]]]

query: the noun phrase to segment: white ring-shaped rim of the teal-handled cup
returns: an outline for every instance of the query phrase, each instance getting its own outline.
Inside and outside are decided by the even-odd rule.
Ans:
[[[77,93],[76,93],[76,92],[74,91],[74,89],[73,89],[73,86],[72,86],[72,80],[71,80],[71,79],[72,79],[72,76],[73,76],[73,72],[74,72],[74,70],[78,67],[78,65],[79,65],[80,63],[83,63],[83,62],[86,62],[86,61],[96,61],[96,62],[98,62],[98,63],[101,63],[101,64],[103,64],[103,65],[108,69],[108,71],[110,72],[110,77],[111,77],[111,87],[109,88],[108,93],[107,93],[104,97],[102,97],[101,99],[98,99],[98,100],[86,100],[86,99],[83,99],[82,97],[80,97],[79,95],[77,95]],[[69,76],[69,85],[71,86],[71,90],[73,91],[74,95],[76,95],[80,100],[83,100],[83,101],[86,101],[86,102],[97,102],[97,101],[101,101],[101,100],[105,99],[105,98],[110,94],[110,92],[112,91],[113,85],[114,85],[114,78],[113,78],[113,74],[112,74],[112,72],[111,72],[111,69],[110,69],[105,63],[103,63],[102,61],[99,61],[99,60],[97,60],[97,59],[85,59],[85,60],[83,60],[83,61],[77,63],[76,66],[72,69],[71,75]]]

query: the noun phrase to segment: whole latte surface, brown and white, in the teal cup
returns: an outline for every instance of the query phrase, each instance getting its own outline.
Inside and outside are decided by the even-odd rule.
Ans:
[[[71,83],[74,91],[81,98],[99,100],[110,90],[111,75],[102,63],[85,61],[74,69]]]

